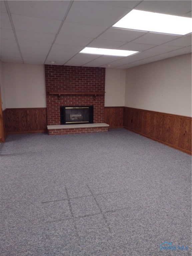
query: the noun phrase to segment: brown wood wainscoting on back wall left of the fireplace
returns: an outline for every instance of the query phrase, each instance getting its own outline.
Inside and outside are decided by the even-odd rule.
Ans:
[[[4,132],[47,132],[46,108],[7,108],[3,111]]]

